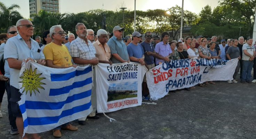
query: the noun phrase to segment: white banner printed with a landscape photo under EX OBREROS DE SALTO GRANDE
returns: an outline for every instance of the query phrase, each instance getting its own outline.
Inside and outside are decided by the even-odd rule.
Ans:
[[[95,65],[97,111],[114,112],[140,106],[141,84],[147,68],[138,63]]]

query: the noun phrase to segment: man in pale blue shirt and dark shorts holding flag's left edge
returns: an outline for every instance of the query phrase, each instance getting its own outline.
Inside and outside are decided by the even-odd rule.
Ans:
[[[18,106],[21,99],[19,90],[19,77],[22,61],[26,59],[37,61],[38,64],[45,65],[44,54],[40,51],[38,42],[30,37],[33,35],[33,24],[28,19],[20,19],[16,23],[18,35],[10,38],[5,45],[4,58],[7,59],[10,67],[10,90],[11,90],[11,111],[16,116],[16,125],[20,136],[23,134],[23,118]],[[38,134],[33,134],[34,139],[40,138]],[[28,139],[25,134],[24,139]]]

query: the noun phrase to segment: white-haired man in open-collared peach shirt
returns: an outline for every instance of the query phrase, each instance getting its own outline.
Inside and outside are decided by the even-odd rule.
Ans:
[[[107,44],[108,33],[107,31],[100,29],[97,31],[98,40],[93,43],[96,50],[96,57],[99,58],[99,63],[108,63],[112,65],[110,60],[111,53]],[[95,84],[96,85],[96,84]]]

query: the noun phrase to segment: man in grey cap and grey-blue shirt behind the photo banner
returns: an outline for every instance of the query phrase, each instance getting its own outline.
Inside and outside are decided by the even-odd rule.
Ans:
[[[112,55],[111,61],[114,64],[130,62],[127,47],[125,43],[122,41],[123,30],[124,28],[121,28],[120,26],[115,26],[113,28],[114,36],[110,38],[108,41],[108,46],[110,48]]]

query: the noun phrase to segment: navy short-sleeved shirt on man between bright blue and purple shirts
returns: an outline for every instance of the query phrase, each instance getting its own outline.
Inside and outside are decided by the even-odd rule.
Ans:
[[[153,47],[153,45],[151,43],[146,43],[145,41],[140,43],[143,50],[144,50],[144,53],[147,51],[147,52],[154,52],[155,51],[155,48]],[[145,56],[145,61],[146,61],[146,64],[147,65],[151,65],[151,64],[154,64],[154,56],[152,55],[144,55]]]

